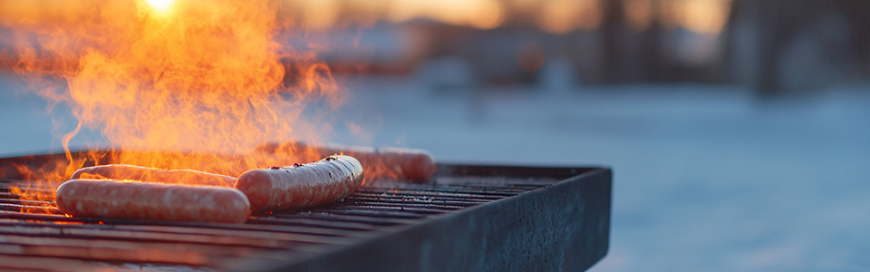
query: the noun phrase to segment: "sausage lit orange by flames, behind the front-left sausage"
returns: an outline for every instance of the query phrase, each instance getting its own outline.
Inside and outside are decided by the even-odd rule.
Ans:
[[[76,170],[70,180],[139,180],[232,188],[237,179],[198,170],[160,170],[128,164],[107,164]]]

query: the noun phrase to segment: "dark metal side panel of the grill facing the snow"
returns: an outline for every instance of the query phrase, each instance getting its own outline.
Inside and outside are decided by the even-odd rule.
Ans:
[[[583,271],[607,253],[611,170],[266,271]],[[386,254],[385,254],[386,253]],[[256,267],[256,264],[252,264]],[[250,267],[248,267],[250,268]]]

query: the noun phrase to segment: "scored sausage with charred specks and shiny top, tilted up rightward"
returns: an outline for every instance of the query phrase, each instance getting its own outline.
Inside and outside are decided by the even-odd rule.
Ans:
[[[362,165],[353,157],[334,155],[307,164],[247,170],[236,189],[255,211],[308,208],[343,199],[362,185]]]

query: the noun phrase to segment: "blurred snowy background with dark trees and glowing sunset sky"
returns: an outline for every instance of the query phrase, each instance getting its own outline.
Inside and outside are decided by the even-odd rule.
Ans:
[[[347,91],[329,141],[612,167],[591,271],[870,269],[870,1],[284,5]],[[0,155],[57,151],[69,109],[0,69]]]

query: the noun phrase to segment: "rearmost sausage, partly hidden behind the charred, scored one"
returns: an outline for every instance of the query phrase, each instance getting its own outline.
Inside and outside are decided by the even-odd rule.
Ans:
[[[333,154],[352,156],[362,163],[368,179],[391,178],[424,181],[435,173],[435,160],[428,151],[404,148],[371,148],[336,144],[309,145],[303,142],[266,143],[256,151],[275,156],[298,157],[314,154],[318,158]]]

